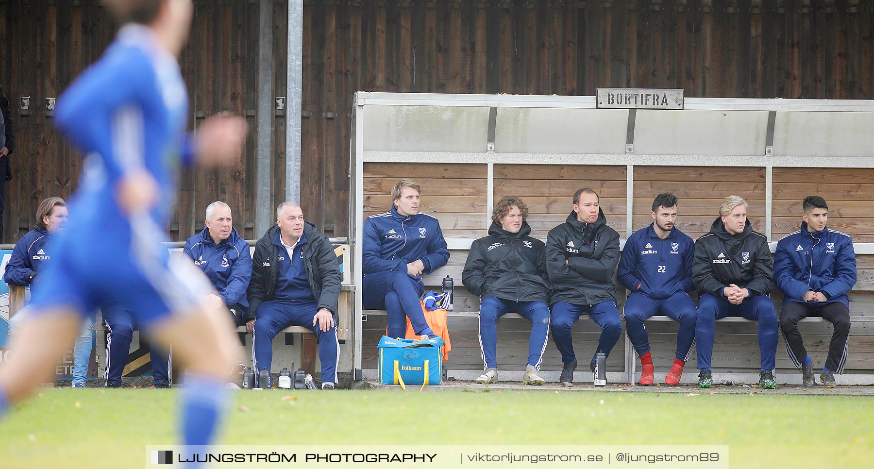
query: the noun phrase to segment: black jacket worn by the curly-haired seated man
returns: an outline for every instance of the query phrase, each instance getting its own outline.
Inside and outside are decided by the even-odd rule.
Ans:
[[[546,245],[528,236],[531,227],[522,222],[517,233],[492,223],[489,236],[470,245],[461,283],[470,293],[513,301],[549,301]]]

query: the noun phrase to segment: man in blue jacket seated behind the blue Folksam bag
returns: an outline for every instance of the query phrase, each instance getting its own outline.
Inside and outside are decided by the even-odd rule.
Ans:
[[[419,302],[431,273],[449,260],[440,222],[419,213],[419,184],[401,179],[392,188],[392,210],[364,220],[364,307],[385,309],[389,337],[406,336],[406,318],[417,335],[436,337]]]

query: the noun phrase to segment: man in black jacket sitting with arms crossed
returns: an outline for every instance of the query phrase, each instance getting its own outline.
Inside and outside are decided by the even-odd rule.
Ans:
[[[546,272],[554,289],[551,296],[552,338],[561,352],[561,376],[565,386],[573,383],[577,357],[573,353],[571,328],[588,314],[601,328],[595,355],[610,355],[622,322],[616,308],[613,272],[619,262],[619,233],[607,226],[600,197],[589,188],[573,195],[573,210],[565,223],[551,229],[546,238]]]

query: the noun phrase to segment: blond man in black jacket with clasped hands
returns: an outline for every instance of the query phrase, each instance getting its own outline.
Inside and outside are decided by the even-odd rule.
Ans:
[[[698,385],[702,388],[713,386],[711,355],[716,321],[726,316],[759,321],[759,385],[771,390],[777,387],[773,368],[779,331],[777,313],[767,296],[773,281],[773,258],[767,238],[753,231],[746,219],[747,206],[741,197],[725,197],[710,233],[695,244],[692,280],[701,293],[695,341]]]

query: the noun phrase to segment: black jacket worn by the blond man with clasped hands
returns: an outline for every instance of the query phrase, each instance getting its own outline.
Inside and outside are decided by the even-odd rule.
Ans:
[[[753,231],[746,220],[744,231],[732,235],[725,231],[722,218],[711,224],[711,231],[695,243],[692,281],[698,293],[725,298],[723,289],[732,283],[749,288],[751,296],[767,294],[773,283],[773,257],[767,238]]]

